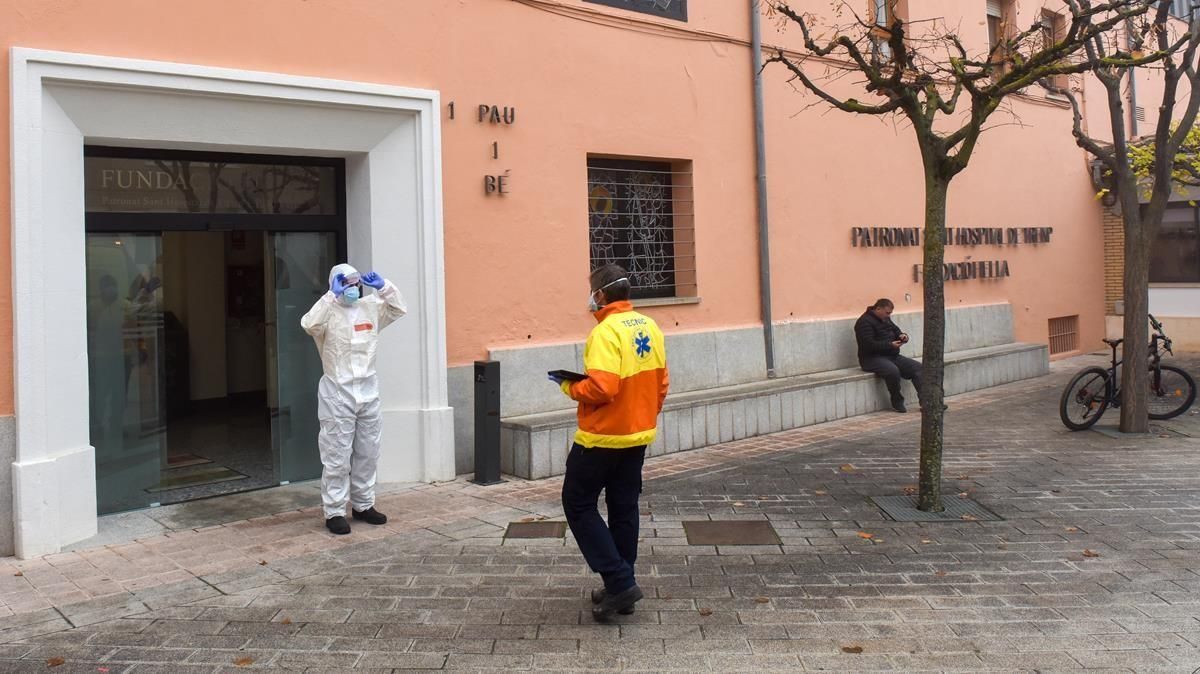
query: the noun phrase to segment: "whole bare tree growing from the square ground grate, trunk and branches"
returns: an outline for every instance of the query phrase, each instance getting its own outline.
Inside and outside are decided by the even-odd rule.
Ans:
[[[943,258],[946,203],[950,182],[967,168],[985,124],[1006,98],[1048,78],[1088,68],[1079,54],[1114,28],[1144,16],[1157,0],[1073,2],[1062,25],[1044,22],[1003,36],[984,50],[970,50],[943,19],[914,24],[898,16],[896,0],[872,2],[877,16],[859,17],[847,2],[834,2],[833,16],[852,16],[842,25],[821,24],[812,14],[772,0],[781,26],[798,26],[799,53],[779,50],[767,65],[791,71],[803,90],[834,109],[858,115],[907,120],[920,150],[925,176],[924,332],[918,507],[943,510],[943,375],[946,294]],[[982,4],[980,4],[982,5]],[[857,6],[857,4],[856,4]],[[881,20],[883,19],[883,20]],[[830,36],[830,37],[824,37]],[[839,96],[839,82],[853,78],[862,96]],[[865,97],[868,101],[860,101]]]

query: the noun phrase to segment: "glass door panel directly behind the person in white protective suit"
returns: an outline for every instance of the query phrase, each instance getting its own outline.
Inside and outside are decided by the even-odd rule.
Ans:
[[[266,251],[266,361],[271,443],[280,481],[320,477],[317,450],[317,384],[320,355],[300,318],[329,289],[337,235],[332,231],[274,231]]]

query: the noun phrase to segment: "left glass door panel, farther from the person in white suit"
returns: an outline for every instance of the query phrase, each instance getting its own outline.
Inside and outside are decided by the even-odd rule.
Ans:
[[[89,234],[88,375],[100,512],[151,505],[167,463],[162,236]]]

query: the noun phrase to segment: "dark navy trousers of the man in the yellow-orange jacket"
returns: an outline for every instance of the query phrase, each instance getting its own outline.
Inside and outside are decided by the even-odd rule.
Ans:
[[[584,447],[575,444],[566,456],[563,477],[563,511],[588,567],[604,578],[608,594],[635,585],[637,561],[637,498],[642,493],[646,445],[624,450]],[[608,524],[600,518],[596,501],[605,491]]]

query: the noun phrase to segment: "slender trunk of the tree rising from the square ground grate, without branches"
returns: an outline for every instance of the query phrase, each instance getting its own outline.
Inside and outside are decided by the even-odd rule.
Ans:
[[[920,477],[917,507],[942,512],[942,387],[946,367],[946,195],[949,180],[925,168],[925,343],[920,377]]]

